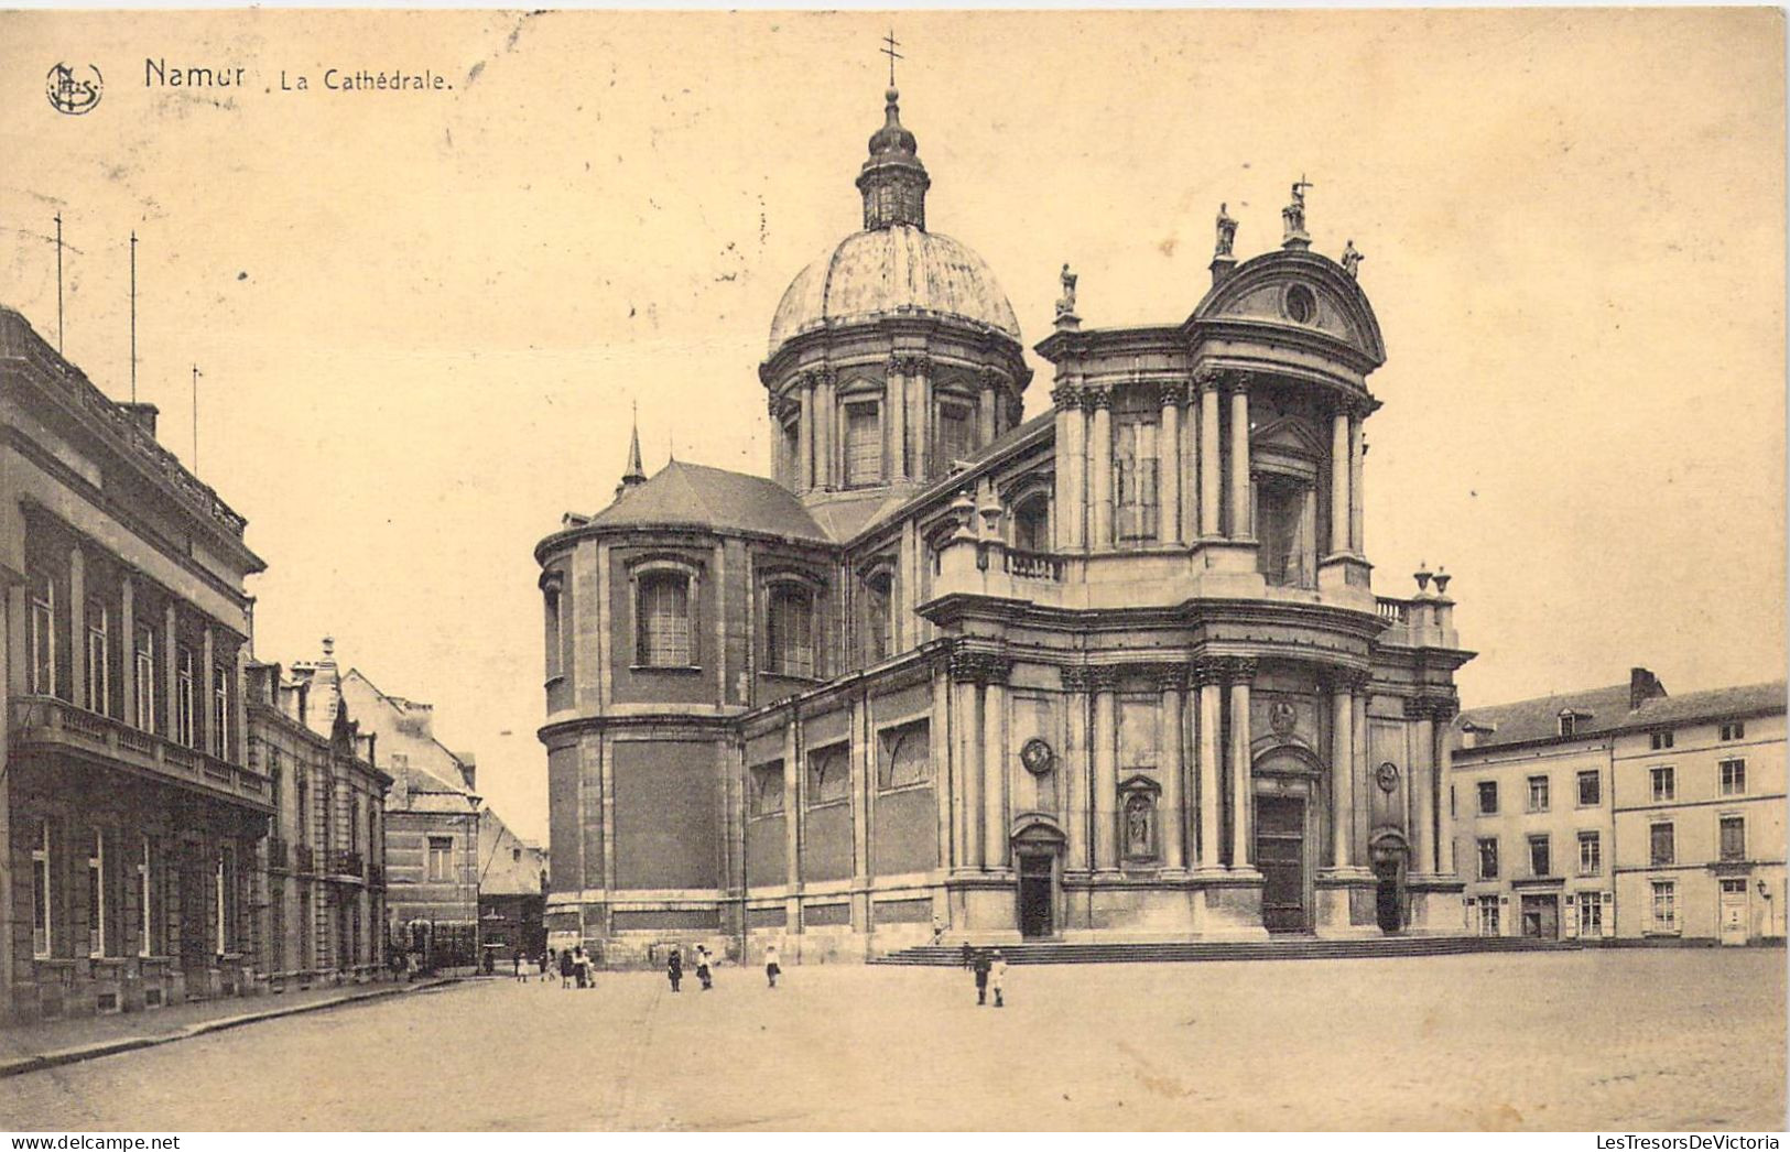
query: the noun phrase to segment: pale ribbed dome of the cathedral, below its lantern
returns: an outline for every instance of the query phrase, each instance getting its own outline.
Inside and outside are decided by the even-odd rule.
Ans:
[[[847,236],[791,281],[771,320],[771,352],[802,333],[886,317],[947,317],[1019,340],[1013,306],[981,256],[891,224]]]

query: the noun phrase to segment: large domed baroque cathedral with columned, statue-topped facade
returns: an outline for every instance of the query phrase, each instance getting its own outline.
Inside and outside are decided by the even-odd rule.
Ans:
[[[1461,934],[1471,653],[1446,576],[1375,596],[1385,347],[1305,184],[1249,259],[1219,209],[1181,320],[1083,327],[1065,267],[1031,419],[893,88],[856,184],[863,229],[771,318],[770,478],[648,478],[635,436],[614,501],[535,547],[550,943]]]

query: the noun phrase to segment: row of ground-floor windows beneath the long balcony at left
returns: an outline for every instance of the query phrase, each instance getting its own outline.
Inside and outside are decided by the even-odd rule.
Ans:
[[[27,821],[30,844],[30,950],[38,959],[54,955],[122,957],[132,948],[140,957],[166,953],[168,907],[177,898],[168,868],[168,848],[149,834],[125,835],[104,825],[73,828],[68,850],[86,853],[86,923],[68,923],[55,909],[75,905],[63,893],[66,869],[57,868],[54,823]],[[127,855],[122,855],[127,853]],[[79,859],[79,857],[77,857]],[[236,846],[220,843],[211,853],[211,907],[204,923],[208,950],[218,955],[238,950]],[[77,871],[77,875],[81,875]],[[129,885],[129,891],[125,891]],[[70,939],[59,939],[68,932]]]

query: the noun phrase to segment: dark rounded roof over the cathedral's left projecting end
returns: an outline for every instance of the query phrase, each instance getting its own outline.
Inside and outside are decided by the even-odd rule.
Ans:
[[[730,528],[736,531],[827,540],[802,501],[782,485],[763,476],[711,469],[673,460],[659,472],[630,488],[591,517],[592,528],[612,526],[691,526]]]

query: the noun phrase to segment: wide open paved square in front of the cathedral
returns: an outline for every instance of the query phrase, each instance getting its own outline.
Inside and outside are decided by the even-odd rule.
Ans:
[[[1777,1129],[1781,950],[469,982],[0,1082],[0,1129]],[[569,1070],[569,1072],[566,1072]]]

